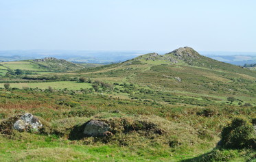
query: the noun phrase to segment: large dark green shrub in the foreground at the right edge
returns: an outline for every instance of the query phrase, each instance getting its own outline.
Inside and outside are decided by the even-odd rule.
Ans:
[[[253,125],[243,118],[235,118],[222,130],[222,147],[246,148],[253,137]]]

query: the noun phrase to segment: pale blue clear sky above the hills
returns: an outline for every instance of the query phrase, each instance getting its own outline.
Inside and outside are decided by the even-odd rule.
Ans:
[[[0,0],[0,50],[256,52],[255,7],[255,0]]]

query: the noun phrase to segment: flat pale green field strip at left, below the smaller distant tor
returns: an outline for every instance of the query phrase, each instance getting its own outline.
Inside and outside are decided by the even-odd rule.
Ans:
[[[64,89],[67,88],[69,90],[80,90],[81,88],[91,88],[91,84],[89,83],[79,83],[76,81],[55,81],[55,82],[43,82],[43,83],[10,83],[10,87],[38,87],[40,89],[47,89],[48,87],[52,87],[54,89]],[[0,87],[3,87],[3,83],[0,83]]]

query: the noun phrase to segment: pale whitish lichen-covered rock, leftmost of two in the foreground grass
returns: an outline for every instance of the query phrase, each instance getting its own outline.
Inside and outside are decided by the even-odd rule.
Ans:
[[[34,117],[31,113],[25,113],[23,116],[16,120],[13,124],[14,129],[17,131],[39,131],[43,127],[43,124]]]

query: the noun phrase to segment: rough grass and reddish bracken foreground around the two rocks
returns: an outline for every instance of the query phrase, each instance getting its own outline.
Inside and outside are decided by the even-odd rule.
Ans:
[[[1,134],[0,161],[253,161],[255,158],[255,151],[250,149],[216,148],[222,127],[237,116],[254,118],[255,107],[155,105],[150,101],[73,90],[38,92],[38,89],[1,90],[0,103],[1,121],[30,112],[54,130],[43,134],[17,131],[12,135]],[[109,138],[72,138],[74,128],[90,119],[106,120],[117,128],[133,123],[134,128],[127,133],[117,131]]]

